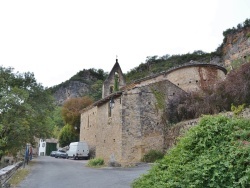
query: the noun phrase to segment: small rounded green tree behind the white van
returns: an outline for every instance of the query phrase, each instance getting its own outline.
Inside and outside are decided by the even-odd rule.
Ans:
[[[71,142],[79,141],[79,135],[74,128],[66,124],[59,133],[59,145],[61,147],[68,146]]]

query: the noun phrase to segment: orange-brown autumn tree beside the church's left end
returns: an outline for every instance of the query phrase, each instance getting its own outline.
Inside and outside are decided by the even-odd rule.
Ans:
[[[69,124],[72,127],[80,128],[80,111],[90,104],[93,100],[90,97],[79,97],[68,99],[62,107],[62,117],[65,124]]]

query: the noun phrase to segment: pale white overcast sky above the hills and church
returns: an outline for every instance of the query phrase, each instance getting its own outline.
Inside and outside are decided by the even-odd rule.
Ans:
[[[0,66],[44,87],[83,69],[124,73],[147,56],[215,51],[249,0],[0,0]]]

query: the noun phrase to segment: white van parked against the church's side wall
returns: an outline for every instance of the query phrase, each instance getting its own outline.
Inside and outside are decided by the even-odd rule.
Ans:
[[[88,158],[89,146],[86,142],[71,142],[67,151],[67,158]]]

